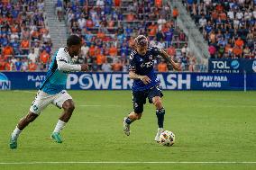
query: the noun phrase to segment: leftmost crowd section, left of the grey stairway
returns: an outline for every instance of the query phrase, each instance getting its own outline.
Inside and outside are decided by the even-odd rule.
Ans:
[[[0,2],[0,70],[46,70],[50,33],[43,0]]]

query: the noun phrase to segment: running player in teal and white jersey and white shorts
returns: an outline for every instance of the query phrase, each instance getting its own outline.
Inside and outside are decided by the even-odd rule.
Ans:
[[[82,46],[82,40],[77,35],[71,35],[67,40],[67,47],[60,48],[52,58],[46,78],[42,83],[29,113],[18,122],[10,139],[10,148],[17,148],[17,139],[22,130],[34,121],[50,103],[63,108],[51,139],[62,143],[60,130],[69,121],[75,109],[72,97],[65,90],[67,77],[71,71],[87,71],[87,64],[72,64],[72,58],[78,56]]]

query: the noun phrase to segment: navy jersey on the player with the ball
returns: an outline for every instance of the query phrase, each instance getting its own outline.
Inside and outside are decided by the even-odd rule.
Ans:
[[[160,49],[156,47],[149,47],[144,56],[141,56],[136,50],[133,50],[130,55],[129,71],[134,71],[140,76],[149,76],[151,79],[151,83],[147,85],[143,84],[142,80],[134,80],[133,91],[143,91],[150,89],[152,86],[160,85],[160,81],[154,71],[154,61],[158,55],[160,55]]]

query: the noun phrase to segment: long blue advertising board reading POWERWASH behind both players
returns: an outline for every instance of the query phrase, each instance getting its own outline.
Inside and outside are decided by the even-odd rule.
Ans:
[[[45,72],[2,72],[0,89],[38,89]],[[256,74],[160,73],[164,90],[256,90]],[[129,90],[128,73],[70,73],[67,89]]]

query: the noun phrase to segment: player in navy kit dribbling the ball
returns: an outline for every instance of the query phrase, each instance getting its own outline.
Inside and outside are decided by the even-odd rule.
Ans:
[[[134,40],[134,49],[130,55],[129,76],[133,82],[133,112],[123,120],[123,132],[129,136],[130,126],[133,121],[140,120],[143,112],[143,105],[146,99],[156,106],[158,118],[158,130],[155,137],[159,141],[160,133],[163,131],[163,121],[165,110],[161,103],[163,94],[160,90],[160,81],[154,72],[154,60],[160,55],[165,58],[174,69],[180,71],[180,67],[171,59],[169,55],[156,47],[149,47],[147,38],[139,35]]]

